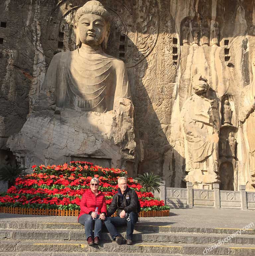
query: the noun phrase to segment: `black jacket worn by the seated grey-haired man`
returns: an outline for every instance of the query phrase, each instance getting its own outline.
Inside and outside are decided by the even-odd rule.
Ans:
[[[138,205],[138,196],[136,192],[127,187],[126,191],[122,195],[120,189],[118,189],[118,193],[114,195],[113,201],[107,210],[107,216],[111,216],[117,211],[117,215],[120,216],[122,210],[125,210],[126,213],[131,211],[137,213],[137,205]]]

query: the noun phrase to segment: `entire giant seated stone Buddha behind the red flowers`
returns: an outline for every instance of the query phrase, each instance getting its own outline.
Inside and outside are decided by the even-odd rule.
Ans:
[[[26,166],[82,160],[136,175],[127,70],[104,52],[110,15],[93,0],[74,23],[77,49],[53,57],[31,116],[7,147]]]

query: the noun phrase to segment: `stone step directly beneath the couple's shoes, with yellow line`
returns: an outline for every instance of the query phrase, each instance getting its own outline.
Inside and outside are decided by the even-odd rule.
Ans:
[[[210,248],[212,248],[210,250]],[[1,239],[0,251],[3,252],[118,252],[149,254],[182,255],[245,255],[254,256],[255,246],[221,245],[213,248],[212,244],[178,244],[167,242],[137,242],[130,245],[118,245],[116,242],[104,242],[89,246],[85,241],[77,240],[20,240]]]

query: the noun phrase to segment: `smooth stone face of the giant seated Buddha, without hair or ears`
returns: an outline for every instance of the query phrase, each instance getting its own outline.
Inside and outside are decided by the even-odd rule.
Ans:
[[[107,35],[107,24],[103,17],[87,13],[80,17],[79,37],[82,44],[99,46]]]

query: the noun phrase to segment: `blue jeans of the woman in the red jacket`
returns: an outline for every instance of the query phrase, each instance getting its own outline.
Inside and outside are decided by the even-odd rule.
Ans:
[[[97,219],[93,220],[92,216],[90,214],[82,214],[78,222],[82,225],[84,225],[85,228],[85,234],[86,234],[86,239],[88,239],[90,236],[92,238],[98,236],[99,239],[101,238],[101,230],[103,226],[103,221],[98,218],[99,215],[97,215]],[[94,230],[94,235],[93,235],[93,223],[95,222],[95,230]]]

